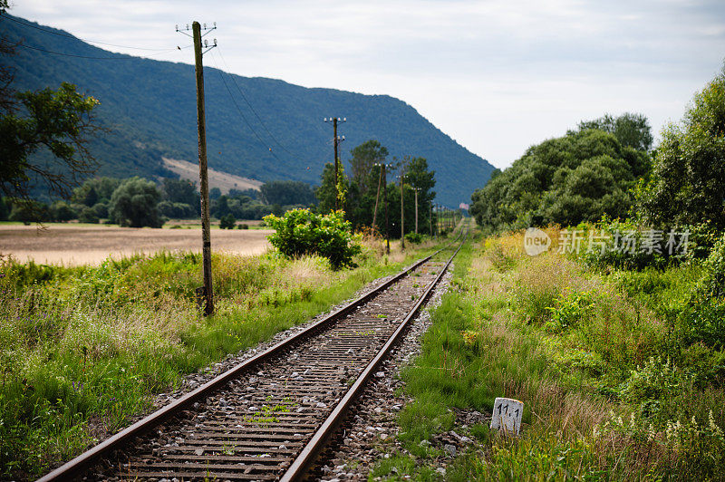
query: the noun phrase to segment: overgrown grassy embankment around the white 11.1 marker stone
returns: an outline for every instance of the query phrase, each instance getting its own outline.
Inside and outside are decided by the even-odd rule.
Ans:
[[[454,427],[476,448],[450,480],[725,478],[725,322],[722,299],[700,301],[707,276],[701,264],[597,271],[529,257],[520,233],[478,238],[402,374],[415,399],[404,450],[371,478],[440,478],[443,451],[421,442]],[[520,437],[456,425],[456,409],[490,413],[500,396],[525,403]]]

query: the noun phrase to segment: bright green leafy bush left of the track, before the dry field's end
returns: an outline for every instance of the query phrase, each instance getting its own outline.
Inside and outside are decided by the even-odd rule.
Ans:
[[[269,242],[287,257],[321,255],[330,260],[333,269],[354,266],[353,256],[361,247],[353,243],[352,225],[344,220],[342,211],[323,216],[309,209],[293,209],[285,216],[265,217],[266,224],[275,229]]]

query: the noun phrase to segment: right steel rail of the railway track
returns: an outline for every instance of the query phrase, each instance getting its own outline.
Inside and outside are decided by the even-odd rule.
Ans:
[[[443,275],[445,275],[450,263],[453,261],[453,258],[459,254],[460,248],[463,247],[463,245],[466,243],[468,235],[469,232],[466,231],[466,235],[463,237],[463,240],[461,241],[458,249],[456,249],[455,253],[450,256],[448,262],[440,270],[440,273],[438,274],[436,279],[429,285],[425,294],[420,296],[420,300],[418,301],[418,303],[413,306],[412,310],[408,313],[408,315],[398,326],[395,332],[391,334],[391,337],[382,346],[380,352],[378,352],[378,354],[375,355],[375,358],[373,358],[372,361],[368,363],[367,367],[365,367],[362,373],[358,376],[357,380],[353,383],[350,389],[345,392],[343,398],[335,406],[327,419],[324,420],[320,428],[314,432],[312,439],[307,442],[300,454],[297,456],[297,458],[295,458],[295,461],[285,471],[285,474],[280,478],[280,482],[294,482],[303,479],[307,472],[307,469],[313,464],[320,450],[324,448],[324,444],[327,442],[327,439],[329,439],[329,437],[333,434],[333,431],[343,420],[347,410],[353,404],[353,401],[357,398],[364,384],[370,379],[372,372],[377,370],[382,360],[388,355],[395,343],[398,342],[401,334],[405,331],[413,318],[415,318],[415,316],[420,312],[420,308],[422,307],[422,305],[428,301],[428,298],[430,298],[430,294],[432,294],[433,289],[435,289],[436,285],[439,284],[440,279],[443,277]]]

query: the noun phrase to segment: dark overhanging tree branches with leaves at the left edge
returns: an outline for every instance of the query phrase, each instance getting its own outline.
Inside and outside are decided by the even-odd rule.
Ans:
[[[96,169],[86,143],[100,129],[92,117],[99,101],[67,82],[57,91],[19,92],[15,98],[24,113],[11,109],[0,115],[0,188],[6,196],[27,198],[30,185],[40,180],[51,194],[69,196],[78,180]],[[31,161],[43,150],[55,165]]]

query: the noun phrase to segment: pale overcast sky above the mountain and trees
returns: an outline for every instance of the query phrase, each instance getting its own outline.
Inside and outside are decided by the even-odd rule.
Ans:
[[[680,120],[692,94],[725,59],[721,0],[11,5],[12,14],[83,39],[150,49],[190,43],[174,32],[174,24],[216,21],[218,30],[209,38],[217,37],[219,48],[205,63],[306,87],[398,97],[499,168],[529,146],[604,112],[641,112],[656,138],[664,123]],[[189,49],[103,47],[193,61]]]

